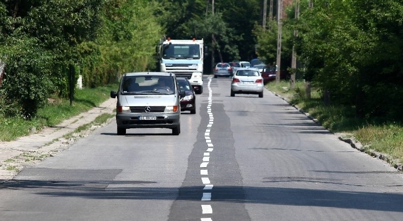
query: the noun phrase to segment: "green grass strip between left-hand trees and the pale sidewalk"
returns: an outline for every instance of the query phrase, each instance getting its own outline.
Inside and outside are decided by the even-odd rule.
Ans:
[[[76,90],[73,105],[69,99],[49,98],[49,104],[38,111],[30,120],[22,117],[0,117],[0,141],[11,141],[28,135],[32,130],[55,126],[63,120],[88,111],[109,98],[109,93],[118,88],[117,84],[96,89]]]

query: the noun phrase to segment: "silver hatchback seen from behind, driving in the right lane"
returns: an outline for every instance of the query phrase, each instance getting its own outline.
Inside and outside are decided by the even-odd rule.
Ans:
[[[232,76],[231,97],[235,94],[258,94],[263,97],[263,78],[256,68],[240,67]]]

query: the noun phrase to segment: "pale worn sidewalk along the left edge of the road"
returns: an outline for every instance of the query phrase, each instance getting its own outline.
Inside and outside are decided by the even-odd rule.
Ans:
[[[64,120],[55,127],[44,128],[14,141],[0,142],[0,182],[12,179],[18,173],[17,170],[25,166],[68,149],[75,140],[85,136],[86,133],[88,135],[90,131],[75,134],[69,139],[63,138],[63,135],[74,132],[79,126],[91,123],[101,114],[113,114],[115,108],[116,99],[110,98],[98,107]],[[15,170],[11,170],[12,168]]]

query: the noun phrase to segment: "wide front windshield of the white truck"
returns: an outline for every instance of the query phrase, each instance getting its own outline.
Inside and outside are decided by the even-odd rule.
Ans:
[[[200,59],[198,44],[166,44],[162,48],[164,59]]]

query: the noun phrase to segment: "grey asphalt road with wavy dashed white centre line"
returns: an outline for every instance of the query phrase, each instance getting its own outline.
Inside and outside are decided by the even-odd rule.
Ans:
[[[25,168],[0,186],[0,220],[402,220],[401,173],[229,87],[206,79],[179,136],[112,122]]]

